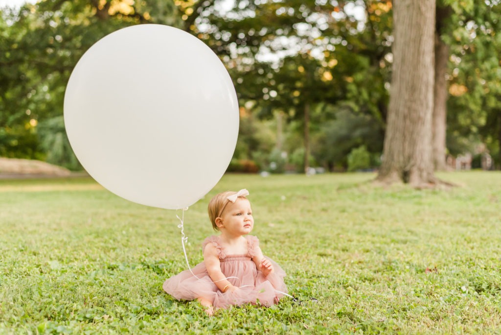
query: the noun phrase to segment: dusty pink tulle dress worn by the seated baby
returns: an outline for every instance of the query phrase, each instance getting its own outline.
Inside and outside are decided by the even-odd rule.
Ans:
[[[197,264],[189,270],[170,277],[163,283],[165,292],[180,300],[194,300],[203,297],[212,301],[215,308],[227,308],[230,305],[242,305],[245,303],[262,304],[271,306],[287,293],[284,283],[285,271],[274,261],[269,259],[275,271],[265,276],[258,271],[252,258],[255,256],[254,248],[259,246],[259,240],[255,236],[246,235],[247,253],[244,255],[227,255],[221,247],[219,237],[210,236],[203,241],[202,250],[207,243],[213,243],[219,255],[221,271],[227,280],[239,290],[234,292],[221,292],[210,279],[204,262]]]

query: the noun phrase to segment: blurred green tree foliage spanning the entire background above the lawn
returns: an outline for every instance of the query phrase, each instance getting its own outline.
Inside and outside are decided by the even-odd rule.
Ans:
[[[483,145],[499,166],[501,5],[474,5],[472,0],[438,2],[450,9],[440,29],[450,53],[446,147],[455,155],[480,152]],[[275,159],[277,138],[263,135],[271,121],[262,120],[280,114],[285,143],[279,149],[291,159],[306,155],[296,163],[346,170],[365,150],[369,165],[378,165],[393,67],[393,6],[386,0],[45,0],[19,10],[4,8],[0,155],[78,169],[62,122],[71,71],[103,36],[144,23],[183,29],[220,57],[243,117],[252,115],[242,123],[258,129],[241,129],[242,158],[259,160],[262,168]]]

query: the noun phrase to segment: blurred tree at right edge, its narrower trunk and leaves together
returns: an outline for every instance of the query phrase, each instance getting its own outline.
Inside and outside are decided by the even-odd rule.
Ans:
[[[461,80],[462,74],[470,73],[472,64],[490,64],[488,69],[484,69],[481,65],[476,67],[476,74],[473,78],[482,80],[481,78],[491,78],[498,81],[499,78],[492,76],[492,70],[498,68],[496,41],[494,32],[498,26],[501,16],[500,4],[498,1],[483,1],[474,3],[472,0],[456,2],[453,0],[439,0],[436,9],[436,30],[435,30],[435,93],[434,93],[434,112],[433,112],[433,157],[435,169],[443,170],[445,168],[446,147],[454,153],[455,150],[473,150],[469,139],[471,135],[479,136],[478,141],[484,143],[492,142],[492,132],[497,132],[496,129],[482,128],[482,117],[479,114],[486,114],[492,117],[496,112],[490,112],[492,108],[485,108],[480,95],[471,95],[469,97],[470,106],[463,106],[460,114],[469,113],[472,119],[478,120],[476,129],[470,129],[469,126],[466,132],[459,131],[462,128],[455,120],[454,114],[447,118],[447,108],[456,111],[456,105],[459,97],[466,92],[474,91],[471,86],[474,81]],[[490,27],[490,28],[489,28]],[[494,41],[493,41],[494,40]],[[485,52],[479,52],[477,46]],[[484,46],[489,46],[484,48]],[[491,47],[490,47],[491,46]],[[452,53],[450,52],[452,50]],[[449,60],[450,59],[450,60]],[[461,59],[467,59],[466,62],[461,62]],[[452,66],[452,68],[450,68]],[[495,73],[495,71],[494,71]],[[469,83],[467,83],[469,82]],[[451,84],[451,85],[449,85]],[[480,84],[481,86],[482,84]],[[449,93],[452,95],[452,101],[447,107],[447,97]],[[462,100],[459,98],[459,100]],[[477,108],[482,107],[481,111]],[[470,108],[471,107],[471,108]],[[475,115],[475,116],[473,116]],[[494,116],[495,119],[495,116]],[[475,123],[475,122],[473,122]],[[446,145],[446,124],[449,126],[449,143]],[[489,124],[495,124],[489,123]],[[482,130],[486,131],[487,136],[480,135]],[[459,139],[460,133],[464,134],[463,139]],[[481,137],[481,138],[480,138]],[[451,142],[453,141],[453,142]],[[459,142],[464,142],[465,145],[460,149],[457,147]],[[497,145],[498,146],[498,145]],[[491,149],[494,147],[490,146]],[[461,152],[456,152],[461,153]]]

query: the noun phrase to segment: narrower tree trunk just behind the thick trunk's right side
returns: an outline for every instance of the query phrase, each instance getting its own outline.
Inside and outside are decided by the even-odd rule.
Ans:
[[[437,7],[435,24],[435,88],[433,100],[433,166],[435,170],[446,170],[446,124],[447,124],[447,62],[449,48],[443,43],[442,35],[445,20],[450,16],[450,7]]]

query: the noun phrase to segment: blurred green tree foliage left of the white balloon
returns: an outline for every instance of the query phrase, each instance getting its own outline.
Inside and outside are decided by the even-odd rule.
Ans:
[[[83,53],[105,35],[130,25],[163,23],[182,26],[172,1],[145,0],[45,0],[26,4],[19,11],[0,13],[0,153],[11,156],[68,159],[61,147],[28,140],[40,123],[56,124],[63,114],[63,99],[71,71]],[[20,128],[20,125],[22,127]],[[22,128],[25,128],[24,130]],[[68,146],[64,128],[49,127]],[[54,134],[42,131],[41,137]],[[52,138],[52,137],[51,137]],[[52,139],[41,138],[41,142]],[[13,151],[28,146],[29,149]],[[48,151],[47,151],[48,150]],[[51,152],[56,150],[56,152]]]

